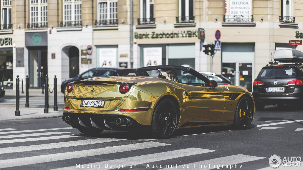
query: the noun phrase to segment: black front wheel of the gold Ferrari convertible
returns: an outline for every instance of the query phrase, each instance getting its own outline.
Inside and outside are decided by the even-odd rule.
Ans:
[[[233,125],[237,129],[247,129],[252,121],[253,104],[247,97],[238,102]]]

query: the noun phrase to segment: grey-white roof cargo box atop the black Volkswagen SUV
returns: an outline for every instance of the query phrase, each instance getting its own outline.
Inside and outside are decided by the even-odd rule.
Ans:
[[[281,49],[276,50],[274,54],[275,61],[297,63],[303,61],[303,53],[298,50]]]

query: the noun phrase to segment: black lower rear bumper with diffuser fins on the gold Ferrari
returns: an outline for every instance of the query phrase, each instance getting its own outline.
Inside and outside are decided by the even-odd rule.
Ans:
[[[142,125],[138,123],[135,119],[126,115],[119,114],[99,114],[99,113],[63,113],[63,116],[69,116],[70,120],[65,121],[65,123],[71,125],[73,128],[77,127],[87,127],[90,129],[104,129],[104,130],[121,130],[121,131],[131,131],[135,129],[147,129],[151,128],[150,125]],[[118,125],[116,123],[117,118],[128,118],[131,123],[125,125],[124,123]]]

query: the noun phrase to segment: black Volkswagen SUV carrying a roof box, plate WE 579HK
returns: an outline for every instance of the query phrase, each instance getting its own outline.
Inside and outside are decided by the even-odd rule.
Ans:
[[[289,51],[298,52],[295,50]],[[303,103],[302,60],[300,57],[295,59],[288,58],[289,60],[284,60],[282,57],[278,58],[279,52],[284,53],[285,50],[275,51],[274,59],[276,62],[270,62],[270,64],[263,67],[253,83],[252,95],[255,100],[256,110],[263,110],[265,105],[278,104],[278,106],[283,106],[284,104],[302,105]],[[303,53],[299,52],[298,54],[302,55],[303,59]],[[295,56],[295,54],[292,54],[292,56]],[[283,63],[289,61],[297,61],[298,63]]]

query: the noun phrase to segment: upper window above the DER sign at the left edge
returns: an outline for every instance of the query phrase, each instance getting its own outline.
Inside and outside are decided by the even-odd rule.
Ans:
[[[1,30],[12,29],[12,1],[2,0]]]

